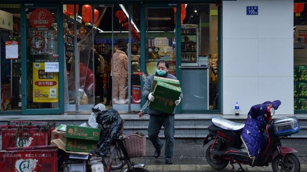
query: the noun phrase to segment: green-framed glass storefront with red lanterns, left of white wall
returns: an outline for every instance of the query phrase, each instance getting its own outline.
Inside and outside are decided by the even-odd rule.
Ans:
[[[0,113],[88,113],[99,102],[139,111],[161,59],[185,93],[177,113],[220,112],[219,3],[14,2],[0,4]]]

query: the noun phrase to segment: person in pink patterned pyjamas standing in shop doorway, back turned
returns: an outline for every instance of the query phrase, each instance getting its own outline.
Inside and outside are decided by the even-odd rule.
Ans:
[[[128,76],[128,56],[125,53],[127,45],[120,43],[113,54],[113,65],[111,75],[113,77],[113,103],[125,104],[126,83]]]

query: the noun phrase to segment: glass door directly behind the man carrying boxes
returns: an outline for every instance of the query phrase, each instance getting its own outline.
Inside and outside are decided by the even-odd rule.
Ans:
[[[176,19],[178,7],[178,4],[146,4],[143,7],[145,40],[141,45],[145,46],[141,49],[145,49],[143,53],[146,60],[143,65],[146,67],[144,72],[147,75],[155,74],[157,62],[164,60],[169,65],[168,73],[181,79],[180,68],[177,68],[181,61],[177,59],[176,50],[180,48],[180,40],[177,39],[180,20]],[[180,113],[180,109],[181,105],[177,106],[176,113]]]

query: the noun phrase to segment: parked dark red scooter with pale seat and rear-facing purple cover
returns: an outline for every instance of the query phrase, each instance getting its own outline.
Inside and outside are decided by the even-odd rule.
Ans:
[[[276,101],[280,104],[279,100]],[[254,105],[249,111],[258,108],[256,109],[257,115],[262,116],[261,119],[264,120],[263,127],[259,128],[259,131],[262,133],[261,137],[264,138],[266,144],[261,149],[262,151],[258,152],[258,158],[251,157],[251,151],[249,147],[246,147],[246,142],[242,137],[244,132],[249,134],[249,130],[244,130],[248,123],[235,123],[223,118],[213,118],[212,125],[208,128],[209,134],[204,140],[204,146],[214,140],[213,144],[206,150],[208,164],[215,170],[221,170],[230,162],[231,170],[236,171],[234,164],[238,163],[240,166],[238,171],[244,171],[241,164],[262,167],[269,166],[269,163],[272,163],[273,172],[300,172],[301,165],[294,154],[297,151],[291,147],[282,147],[280,142],[280,138],[300,131],[299,122],[296,117],[283,117],[273,120],[272,116],[274,116],[275,109],[278,108],[279,104],[277,103],[274,108],[272,104],[265,102],[264,106],[263,104],[261,107]],[[263,114],[260,112],[263,112]],[[250,118],[249,115],[248,118]]]

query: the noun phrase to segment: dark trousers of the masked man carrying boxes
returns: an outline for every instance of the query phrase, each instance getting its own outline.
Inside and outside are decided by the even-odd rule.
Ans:
[[[174,134],[175,134],[175,118],[174,115],[150,115],[148,125],[148,137],[153,143],[155,149],[163,146],[158,134],[161,127],[164,127],[165,136],[165,158],[172,158],[174,156]]]

